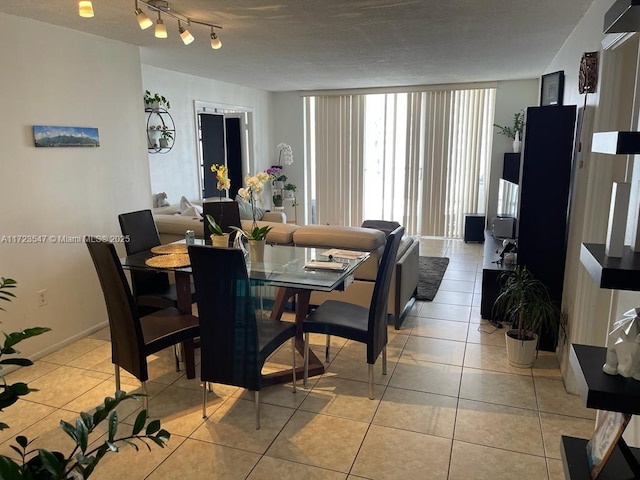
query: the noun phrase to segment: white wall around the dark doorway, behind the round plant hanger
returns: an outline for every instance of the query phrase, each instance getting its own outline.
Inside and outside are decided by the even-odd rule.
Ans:
[[[166,192],[170,203],[183,195],[200,199],[194,102],[210,102],[253,111],[254,166],[264,170],[273,162],[276,145],[272,138],[272,94],[262,90],[218,82],[193,75],[142,65],[144,90],[164,95],[176,126],[173,149],[167,154],[149,154],[151,190]],[[289,143],[289,142],[287,142]]]

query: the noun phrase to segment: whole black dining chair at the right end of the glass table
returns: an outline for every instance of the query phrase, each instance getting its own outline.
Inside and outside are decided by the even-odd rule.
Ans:
[[[304,377],[307,387],[309,375],[309,335],[323,333],[354,340],[367,345],[369,364],[369,398],[373,400],[373,365],[382,352],[382,373],[387,374],[387,299],[394,259],[398,253],[404,227],[398,227],[387,237],[378,266],[369,308],[337,300],[327,300],[302,323],[304,338]]]

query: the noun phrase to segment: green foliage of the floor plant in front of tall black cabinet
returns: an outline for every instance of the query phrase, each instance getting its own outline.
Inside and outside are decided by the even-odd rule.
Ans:
[[[501,279],[504,283],[493,311],[512,323],[517,339],[530,340],[542,330],[557,335],[561,326],[560,308],[551,299],[545,284],[521,265],[505,272]]]

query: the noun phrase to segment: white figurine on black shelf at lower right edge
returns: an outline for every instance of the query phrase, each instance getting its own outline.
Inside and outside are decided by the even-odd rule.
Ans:
[[[640,308],[631,309],[613,324],[608,335],[607,361],[602,371],[640,380]]]

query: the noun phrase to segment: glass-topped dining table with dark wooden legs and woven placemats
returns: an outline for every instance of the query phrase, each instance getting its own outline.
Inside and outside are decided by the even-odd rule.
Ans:
[[[196,245],[203,243],[202,240],[195,240]],[[160,251],[172,252],[169,255],[184,255],[187,248],[184,240],[159,247]],[[165,249],[163,250],[162,247]],[[158,248],[154,249],[158,251]],[[191,266],[188,264],[188,257],[181,257],[181,261],[176,261],[173,264],[170,261],[153,262],[150,260],[152,258],[163,260],[157,257],[158,254],[148,250],[121,258],[120,261],[125,269],[172,272],[175,275],[178,309],[191,313]],[[335,250],[326,248],[266,245],[263,261],[250,261],[247,258],[247,273],[252,284],[258,289],[261,286],[276,287],[273,307],[269,314],[270,318],[280,319],[288,302],[291,299],[295,300],[296,349],[300,354],[303,354],[302,322],[309,309],[311,293],[313,291],[344,290],[353,281],[353,272],[368,258],[368,252],[337,251],[336,253]],[[149,263],[159,263],[162,266],[149,266]],[[324,364],[313,352],[309,353],[309,375],[322,374]],[[302,372],[302,367],[299,368]],[[185,358],[185,370],[187,378],[195,378],[193,358]],[[264,385],[285,383],[290,379],[290,369],[263,374]]]

